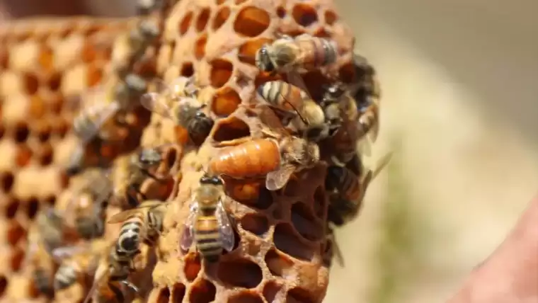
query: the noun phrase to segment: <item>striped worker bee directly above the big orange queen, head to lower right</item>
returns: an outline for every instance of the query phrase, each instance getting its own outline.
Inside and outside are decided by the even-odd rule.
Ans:
[[[263,100],[280,114],[284,125],[291,124],[295,130],[303,132],[303,137],[311,141],[317,142],[331,137],[338,130],[335,121],[327,119],[332,116],[326,117],[324,109],[329,109],[329,106],[321,107],[299,86],[285,81],[268,81],[258,86],[257,91]],[[333,115],[332,105],[330,110],[328,113]]]

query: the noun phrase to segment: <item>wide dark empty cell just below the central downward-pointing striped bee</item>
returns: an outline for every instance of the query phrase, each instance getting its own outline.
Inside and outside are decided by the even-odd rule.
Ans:
[[[246,259],[221,261],[217,275],[226,285],[245,288],[258,286],[263,278],[260,266]]]

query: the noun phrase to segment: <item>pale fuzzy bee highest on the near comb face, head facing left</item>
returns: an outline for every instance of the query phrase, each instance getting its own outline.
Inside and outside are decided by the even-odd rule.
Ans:
[[[263,72],[310,70],[336,62],[336,44],[332,40],[302,34],[295,38],[282,35],[256,52],[256,67]]]

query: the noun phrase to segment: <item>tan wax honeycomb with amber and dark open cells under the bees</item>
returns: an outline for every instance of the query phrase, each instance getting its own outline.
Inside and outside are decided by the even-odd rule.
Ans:
[[[219,146],[259,136],[260,121],[239,105],[256,102],[255,88],[265,81],[285,79],[260,73],[254,66],[256,50],[277,33],[335,40],[338,62],[303,75],[309,93],[318,98],[323,84],[357,78],[350,28],[328,0],[171,0],[162,13],[161,38],[148,52],[149,64],[136,72],[156,74],[167,83],[193,76],[215,123],[195,149],[183,128],[141,108],[133,113],[135,122],[128,125],[125,140],[99,147],[101,155],[118,162],[139,146],[171,143],[166,166],[179,168],[166,190],[151,179],[142,185],[144,195],[170,203],[158,243],[144,246],[137,258],[134,280],[141,292],[134,302],[321,302],[332,254],[324,162],[297,173],[276,192],[259,180],[227,179],[236,243],[217,265],[202,262],[194,248],[181,251],[178,241],[193,190]],[[69,97],[88,96],[93,87],[115,83],[114,38],[134,24],[135,19],[75,18],[20,21],[0,29],[0,154],[9,157],[0,167],[0,205],[6,216],[0,241],[9,264],[0,273],[1,302],[50,300],[37,292],[23,260],[35,216],[46,205],[64,209],[84,176],[69,178],[62,169],[76,142]],[[90,144],[85,165],[100,159]],[[109,208],[109,215],[119,211]],[[117,226],[106,228],[105,240],[114,241]],[[54,268],[52,259],[46,262]],[[73,285],[52,300],[78,302],[87,286]]]

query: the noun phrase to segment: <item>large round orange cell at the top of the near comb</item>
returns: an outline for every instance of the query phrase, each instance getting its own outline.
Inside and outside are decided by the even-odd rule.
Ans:
[[[268,12],[254,6],[246,6],[237,14],[234,30],[239,35],[256,37],[269,27],[270,22]]]

